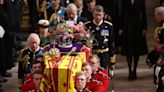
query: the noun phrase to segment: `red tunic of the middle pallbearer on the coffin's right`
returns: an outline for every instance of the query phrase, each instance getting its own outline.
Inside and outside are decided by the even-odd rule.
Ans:
[[[91,78],[87,81],[86,87],[82,92],[106,92],[102,86],[102,82]]]

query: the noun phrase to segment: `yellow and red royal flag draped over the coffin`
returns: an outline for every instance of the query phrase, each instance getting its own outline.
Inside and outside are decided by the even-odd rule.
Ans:
[[[70,55],[64,53],[58,63],[51,59],[46,54],[44,73],[48,76],[47,79],[49,80],[47,81],[50,81],[51,92],[73,92],[75,73],[81,71],[82,62],[86,62],[86,54],[84,52],[76,52]],[[44,83],[41,89],[49,88],[47,84]],[[47,91],[42,90],[42,92]]]

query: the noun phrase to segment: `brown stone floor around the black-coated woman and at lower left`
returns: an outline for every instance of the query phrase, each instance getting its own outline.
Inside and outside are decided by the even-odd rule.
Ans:
[[[148,16],[147,41],[149,51],[153,49],[153,30],[156,22],[154,20],[154,8],[159,5],[158,0],[146,0]],[[116,69],[114,70],[113,89],[115,92],[155,92],[156,86],[153,84],[153,70],[145,62],[146,55],[140,58],[138,65],[138,79],[128,81],[128,68],[125,57],[117,55]],[[13,76],[2,86],[4,92],[19,92],[17,88],[17,65],[9,70]]]

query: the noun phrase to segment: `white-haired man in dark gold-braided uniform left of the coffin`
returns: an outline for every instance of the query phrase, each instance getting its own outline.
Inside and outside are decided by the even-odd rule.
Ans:
[[[18,58],[18,79],[19,87],[21,88],[24,82],[24,76],[31,72],[32,63],[37,55],[42,55],[39,35],[31,33],[27,39],[28,48],[22,49]]]

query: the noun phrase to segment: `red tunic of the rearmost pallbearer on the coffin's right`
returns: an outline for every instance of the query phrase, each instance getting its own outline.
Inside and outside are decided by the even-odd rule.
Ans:
[[[108,71],[104,68],[98,68],[97,71],[92,73],[92,78],[102,82],[105,92],[108,91],[110,85],[110,79],[108,77]]]

